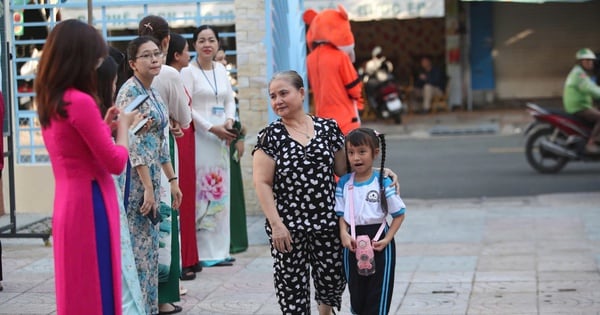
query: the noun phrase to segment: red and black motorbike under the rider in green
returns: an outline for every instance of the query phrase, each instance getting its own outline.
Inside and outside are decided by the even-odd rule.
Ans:
[[[552,174],[570,161],[600,161],[600,155],[585,151],[593,123],[533,103],[527,111],[534,121],[525,129],[525,156],[536,171]]]

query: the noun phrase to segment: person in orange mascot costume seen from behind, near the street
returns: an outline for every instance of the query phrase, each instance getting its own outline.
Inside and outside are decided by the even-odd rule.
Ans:
[[[306,42],[308,82],[318,117],[333,118],[344,134],[360,127],[358,110],[363,109],[362,82],[354,69],[354,35],[343,6],[320,13],[308,9],[303,15],[309,25]]]

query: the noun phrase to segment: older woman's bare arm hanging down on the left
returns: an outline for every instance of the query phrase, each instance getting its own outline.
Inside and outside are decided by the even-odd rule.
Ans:
[[[273,247],[280,252],[288,252],[292,249],[292,237],[281,221],[273,198],[275,161],[263,150],[256,150],[252,159],[252,173],[258,202],[271,226]]]

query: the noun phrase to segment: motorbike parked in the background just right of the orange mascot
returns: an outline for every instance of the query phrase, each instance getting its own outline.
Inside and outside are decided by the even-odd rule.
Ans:
[[[365,87],[369,106],[373,108],[377,117],[393,118],[396,124],[401,124],[404,106],[392,74],[379,70],[368,78]]]

